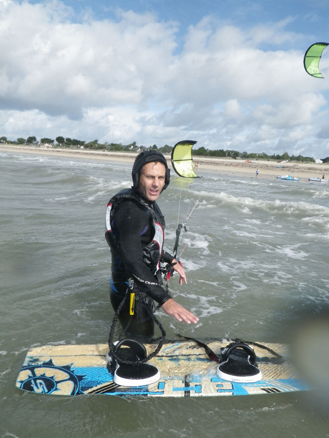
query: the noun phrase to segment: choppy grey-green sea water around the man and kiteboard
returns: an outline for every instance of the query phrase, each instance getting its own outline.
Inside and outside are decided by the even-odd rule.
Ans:
[[[328,410],[307,393],[160,400],[15,387],[30,347],[107,342],[104,215],[131,166],[0,153],[0,437],[329,437]],[[169,251],[195,206],[178,251],[188,285],[174,276],[169,286],[200,321],[160,312],[167,337],[288,342],[306,314],[328,308],[329,186],[198,173],[172,172],[158,202]]]

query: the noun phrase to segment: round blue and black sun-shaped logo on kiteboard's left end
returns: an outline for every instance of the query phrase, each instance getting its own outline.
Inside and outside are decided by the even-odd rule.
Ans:
[[[39,394],[52,394],[61,391],[70,395],[83,394],[80,382],[84,376],[79,376],[71,369],[70,365],[57,366],[52,359],[42,364],[27,364],[19,374],[19,387],[24,391]]]

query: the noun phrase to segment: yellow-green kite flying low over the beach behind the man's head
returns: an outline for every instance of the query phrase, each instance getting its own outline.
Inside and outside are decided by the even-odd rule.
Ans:
[[[172,164],[177,175],[184,178],[199,178],[194,172],[192,160],[193,140],[184,140],[175,144],[172,150]]]

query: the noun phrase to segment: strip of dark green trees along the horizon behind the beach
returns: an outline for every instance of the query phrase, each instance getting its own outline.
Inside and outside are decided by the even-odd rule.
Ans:
[[[77,140],[74,138],[58,136],[56,139],[51,139],[43,137],[40,141],[37,140],[36,136],[29,136],[26,139],[18,138],[16,141],[10,141],[7,137],[0,137],[0,143],[10,144],[10,145],[31,145],[31,146],[44,146],[48,147],[68,147],[68,148],[80,148],[80,149],[90,149],[90,150],[109,150],[109,151],[142,151],[148,149],[156,149],[164,154],[170,154],[173,150],[173,146],[137,146],[136,142],[132,142],[129,145],[123,145],[122,143],[98,143],[98,140],[93,140],[92,142],[85,142],[83,140]],[[265,152],[254,153],[254,152],[239,152],[236,150],[224,150],[224,149],[207,149],[204,146],[193,149],[193,155],[196,156],[207,156],[207,157],[231,157],[255,159],[255,160],[287,160],[296,162],[309,162],[315,163],[312,157],[303,157],[302,155],[294,156],[289,155],[287,152],[283,154],[272,154],[269,155]],[[323,163],[329,163],[329,157],[321,159]]]

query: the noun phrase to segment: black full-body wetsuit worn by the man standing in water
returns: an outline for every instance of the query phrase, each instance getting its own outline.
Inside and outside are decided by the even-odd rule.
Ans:
[[[120,193],[129,196],[131,194],[133,197],[136,196],[136,199],[129,199],[129,197],[120,199]],[[120,202],[116,204],[111,214],[111,225],[108,225],[108,228],[112,228],[110,233],[115,235],[115,244],[113,239],[109,238],[109,230],[106,233],[112,253],[111,303],[116,310],[126,296],[124,306],[119,313],[122,329],[126,329],[126,334],[135,339],[150,339],[154,335],[153,300],[163,304],[171,296],[159,284],[159,281],[161,282],[159,271],[153,273],[150,263],[145,260],[145,248],[155,238],[154,218],[158,218],[161,222],[163,233],[165,223],[157,204],[147,201],[139,191],[129,189],[119,192],[118,195]],[[145,205],[148,208],[145,208]],[[150,214],[150,209],[153,215]],[[174,258],[163,250],[158,256],[165,263],[171,263]],[[153,268],[153,271],[155,269]],[[129,311],[129,279],[134,280],[135,310],[133,315],[130,315]]]

